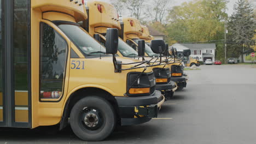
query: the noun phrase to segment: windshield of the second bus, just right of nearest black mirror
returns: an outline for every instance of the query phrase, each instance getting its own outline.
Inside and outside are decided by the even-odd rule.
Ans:
[[[138,56],[138,52],[136,50],[132,49],[131,46],[126,44],[120,38],[119,38],[119,42],[118,42],[118,50],[125,57]]]

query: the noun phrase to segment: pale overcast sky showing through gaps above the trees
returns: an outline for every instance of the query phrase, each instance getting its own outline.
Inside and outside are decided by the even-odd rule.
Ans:
[[[104,1],[104,2],[110,2],[110,0],[100,0],[100,1]],[[139,1],[139,0],[138,0]],[[192,0],[171,0],[173,3],[173,5],[181,5],[183,2],[190,2]],[[233,7],[234,7],[234,4],[237,2],[238,0],[229,0],[229,3],[228,3],[228,11],[227,13],[229,15],[231,15],[233,13]],[[256,5],[256,0],[251,0],[252,3],[254,3],[254,5]]]

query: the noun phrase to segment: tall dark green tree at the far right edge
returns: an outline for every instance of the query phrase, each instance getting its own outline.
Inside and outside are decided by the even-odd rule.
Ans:
[[[232,51],[239,53],[243,62],[243,53],[254,45],[252,40],[256,29],[254,9],[248,1],[238,0],[234,10],[229,21],[229,39],[234,43],[231,45]]]

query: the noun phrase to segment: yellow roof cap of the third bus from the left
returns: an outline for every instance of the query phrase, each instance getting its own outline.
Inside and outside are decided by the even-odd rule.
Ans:
[[[124,34],[136,34],[138,37],[141,37],[142,27],[139,20],[132,17],[123,17],[124,22]]]

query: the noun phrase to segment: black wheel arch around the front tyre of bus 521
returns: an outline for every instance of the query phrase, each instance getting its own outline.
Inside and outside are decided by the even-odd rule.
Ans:
[[[65,128],[66,125],[68,124],[68,118],[69,118],[70,112],[73,106],[77,103],[77,101],[88,96],[97,96],[97,97],[101,97],[108,100],[109,103],[113,106],[116,116],[118,118],[118,112],[119,112],[118,104],[117,104],[117,100],[115,100],[112,94],[108,93],[107,91],[104,91],[103,89],[95,88],[95,87],[81,88],[75,91],[74,93],[72,93],[68,98],[67,103],[65,105],[65,109],[63,111],[62,118],[61,118],[60,130]]]

